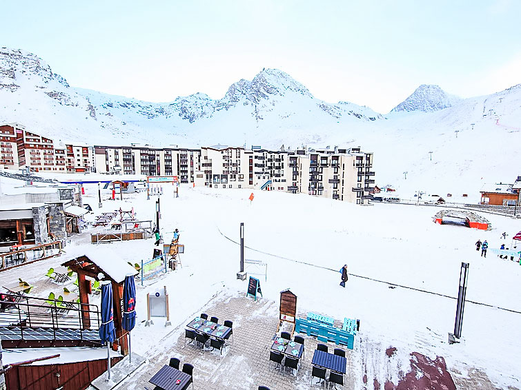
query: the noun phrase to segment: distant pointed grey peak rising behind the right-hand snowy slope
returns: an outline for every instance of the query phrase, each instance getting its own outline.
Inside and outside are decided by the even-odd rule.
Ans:
[[[459,103],[462,99],[458,96],[446,94],[438,85],[422,84],[391,112],[423,111],[433,112],[443,110]]]

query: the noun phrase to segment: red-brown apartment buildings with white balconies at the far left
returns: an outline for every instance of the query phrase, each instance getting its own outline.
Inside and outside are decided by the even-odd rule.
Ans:
[[[92,147],[64,144],[29,132],[19,123],[0,126],[1,168],[29,167],[31,172],[92,172]]]

